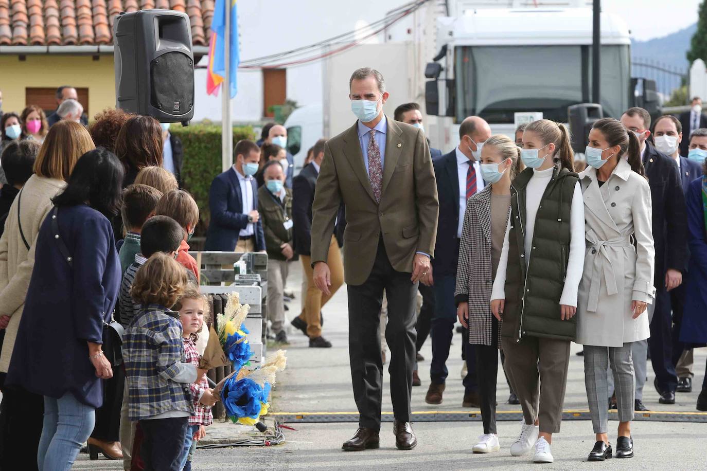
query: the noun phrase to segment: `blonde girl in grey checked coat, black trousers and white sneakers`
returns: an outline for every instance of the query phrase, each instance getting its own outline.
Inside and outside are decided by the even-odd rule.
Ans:
[[[510,209],[510,181],[520,171],[520,148],[506,136],[491,136],[481,149],[481,174],[488,183],[467,201],[459,249],[455,302],[476,350],[484,435],[474,453],[500,449],[496,434],[496,376],[500,322],[491,314],[491,286],[501,257]],[[469,295],[471,294],[471,295]]]

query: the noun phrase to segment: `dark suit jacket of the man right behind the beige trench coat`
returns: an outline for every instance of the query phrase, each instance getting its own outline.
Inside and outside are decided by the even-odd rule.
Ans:
[[[648,176],[653,201],[653,243],[655,278],[653,284],[665,283],[668,268],[685,273],[687,269],[687,216],[685,196],[677,164],[664,153],[645,143],[643,166]]]

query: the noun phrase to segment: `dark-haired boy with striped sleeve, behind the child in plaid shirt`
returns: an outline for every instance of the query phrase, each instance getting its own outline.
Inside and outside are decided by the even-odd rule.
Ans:
[[[125,270],[120,285],[120,323],[124,328],[128,328],[140,309],[139,302],[135,302],[130,295],[137,271],[150,256],[157,252],[174,257],[182,242],[182,234],[182,227],[171,217],[155,216],[145,222],[140,236],[140,253],[134,256],[134,263]],[[184,271],[187,273],[187,270]],[[136,422],[131,422],[128,419],[128,383],[126,382],[123,405],[120,410],[120,445],[123,451],[123,469],[125,471],[131,469],[132,450],[136,436],[135,428]]]

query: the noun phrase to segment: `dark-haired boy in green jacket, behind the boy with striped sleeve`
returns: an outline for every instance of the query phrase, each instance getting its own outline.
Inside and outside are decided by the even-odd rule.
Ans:
[[[155,206],[161,197],[159,190],[147,185],[130,185],[123,190],[121,213],[127,234],[118,251],[123,274],[140,252],[142,227],[146,220],[155,215]]]

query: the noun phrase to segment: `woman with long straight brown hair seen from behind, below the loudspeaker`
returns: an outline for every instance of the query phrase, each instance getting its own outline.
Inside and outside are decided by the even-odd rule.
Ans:
[[[156,119],[134,116],[125,121],[115,141],[115,155],[125,168],[123,187],[132,185],[141,169],[162,167],[162,146],[162,128]]]

